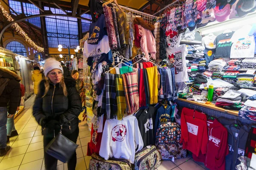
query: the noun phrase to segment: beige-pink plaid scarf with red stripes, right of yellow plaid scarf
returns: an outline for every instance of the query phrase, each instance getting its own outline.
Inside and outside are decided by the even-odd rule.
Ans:
[[[125,80],[127,82],[127,92],[129,96],[129,104],[131,108],[131,114],[136,113],[139,110],[139,91],[136,71],[125,73]]]

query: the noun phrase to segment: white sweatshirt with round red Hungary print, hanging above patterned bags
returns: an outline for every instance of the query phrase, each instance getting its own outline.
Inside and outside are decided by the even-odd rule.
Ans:
[[[128,159],[134,163],[135,150],[143,148],[143,139],[135,116],[127,116],[123,120],[106,120],[99,155],[108,158]]]

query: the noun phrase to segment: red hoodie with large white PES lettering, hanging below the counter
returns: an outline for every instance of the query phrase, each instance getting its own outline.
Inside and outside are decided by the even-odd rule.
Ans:
[[[204,164],[210,170],[225,170],[225,157],[229,153],[227,129],[216,119],[214,121],[208,120],[207,125],[209,140],[207,154],[204,155]]]

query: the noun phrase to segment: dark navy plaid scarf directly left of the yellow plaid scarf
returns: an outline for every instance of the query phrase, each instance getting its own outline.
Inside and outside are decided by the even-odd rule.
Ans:
[[[107,119],[114,119],[116,117],[117,111],[116,85],[114,74],[106,73],[105,85]]]

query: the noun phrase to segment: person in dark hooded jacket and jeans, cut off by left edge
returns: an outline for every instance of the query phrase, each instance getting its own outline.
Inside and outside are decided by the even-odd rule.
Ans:
[[[19,82],[20,77],[17,74],[9,69],[0,68],[0,156],[4,156],[11,148],[6,145],[6,123],[7,118],[13,117],[20,105]]]

